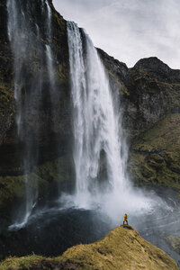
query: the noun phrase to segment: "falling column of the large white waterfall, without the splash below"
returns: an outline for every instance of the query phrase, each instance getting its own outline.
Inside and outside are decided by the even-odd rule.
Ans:
[[[76,198],[84,203],[98,190],[98,183],[96,185],[94,182],[98,177],[102,151],[107,163],[108,189],[114,193],[116,189],[124,188],[126,182],[120,155],[119,118],[114,112],[112,94],[103,65],[92,41],[85,33],[84,52],[78,27],[75,23],[67,25],[74,107]]]

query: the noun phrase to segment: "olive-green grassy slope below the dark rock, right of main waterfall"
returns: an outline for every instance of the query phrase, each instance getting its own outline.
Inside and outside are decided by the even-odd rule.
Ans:
[[[180,189],[180,114],[167,115],[132,141],[130,172],[137,184]]]

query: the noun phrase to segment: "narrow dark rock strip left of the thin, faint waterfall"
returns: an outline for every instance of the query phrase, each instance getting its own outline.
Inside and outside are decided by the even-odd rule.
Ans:
[[[2,145],[11,140],[8,131],[14,125],[13,56],[8,40],[5,0],[1,1],[0,14],[0,144]]]

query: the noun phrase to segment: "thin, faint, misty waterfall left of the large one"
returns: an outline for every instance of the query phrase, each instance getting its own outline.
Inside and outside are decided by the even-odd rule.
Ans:
[[[39,6],[40,20],[45,21],[46,32],[40,29],[39,18],[34,19],[34,8]],[[8,35],[14,55],[14,99],[18,138],[23,145],[22,167],[26,201],[15,217],[13,228],[22,227],[31,215],[38,197],[38,183],[32,174],[38,164],[40,138],[40,103],[43,66],[48,66],[52,80],[51,14],[48,1],[37,3],[23,0],[7,0]],[[40,39],[47,40],[42,47]],[[46,51],[44,55],[43,51]],[[45,62],[46,59],[46,62]]]

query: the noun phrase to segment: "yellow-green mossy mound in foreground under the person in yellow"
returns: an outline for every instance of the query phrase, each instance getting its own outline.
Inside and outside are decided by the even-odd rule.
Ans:
[[[121,226],[89,245],[71,247],[56,258],[8,258],[0,269],[153,269],[176,270],[175,261],[139,236],[136,229]]]

